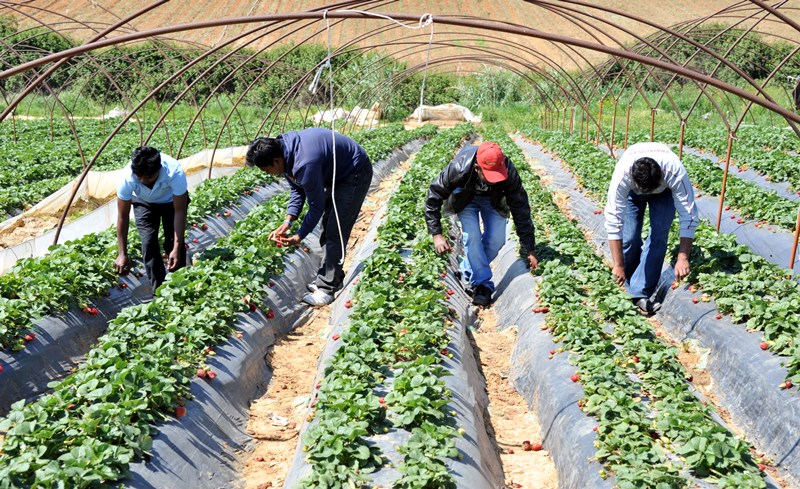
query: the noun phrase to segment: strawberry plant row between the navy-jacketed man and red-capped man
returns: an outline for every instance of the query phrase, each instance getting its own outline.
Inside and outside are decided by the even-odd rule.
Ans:
[[[455,457],[451,393],[439,366],[451,323],[440,275],[447,258],[425,233],[419,198],[471,132],[458,127],[434,137],[389,200],[378,247],[366,260],[351,300],[350,324],[333,336],[339,348],[317,385],[303,450],[312,471],[302,487],[356,487],[391,463],[370,436],[411,432],[399,447],[397,488],[454,487],[444,459]],[[403,250],[412,248],[410,262]],[[453,291],[450,291],[453,292]]]

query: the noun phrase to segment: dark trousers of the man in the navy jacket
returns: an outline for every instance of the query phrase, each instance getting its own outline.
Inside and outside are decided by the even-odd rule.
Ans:
[[[322,247],[322,264],[317,272],[317,287],[329,294],[342,288],[344,270],[339,263],[344,260],[342,255],[342,240],[344,246],[350,239],[350,232],[361,211],[361,204],[369,192],[372,183],[372,164],[367,161],[362,169],[351,175],[346,182],[336,184],[336,209],[339,214],[339,225],[342,229],[339,239],[339,226],[336,223],[336,213],[333,211],[331,189],[325,189],[325,213],[322,216],[322,234],[319,244]]]

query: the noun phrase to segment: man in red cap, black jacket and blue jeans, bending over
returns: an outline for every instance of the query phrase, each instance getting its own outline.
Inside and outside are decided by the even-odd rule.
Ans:
[[[472,303],[488,306],[494,294],[489,266],[506,242],[509,214],[528,263],[536,268],[535,239],[528,194],[516,168],[497,143],[486,141],[467,146],[439,173],[428,189],[425,220],[436,251],[450,251],[442,235],[442,206],[445,215],[458,214],[464,243],[461,273],[472,291]],[[483,222],[483,232],[481,232]]]

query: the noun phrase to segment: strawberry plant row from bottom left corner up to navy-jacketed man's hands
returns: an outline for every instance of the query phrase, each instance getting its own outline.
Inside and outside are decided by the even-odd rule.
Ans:
[[[15,403],[0,421],[0,487],[95,486],[147,454],[155,423],[186,413],[205,356],[282,272],[290,250],[267,235],[286,201],[256,208],[194,266],[171,274],[152,302],[124,309],[52,394]]]

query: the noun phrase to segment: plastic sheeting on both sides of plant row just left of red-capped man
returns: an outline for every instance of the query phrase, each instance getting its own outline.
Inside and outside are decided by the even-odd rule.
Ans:
[[[344,303],[351,296],[353,281],[361,273],[364,260],[372,255],[377,246],[372,238],[377,235],[377,228],[382,222],[380,216],[383,214],[383,210],[376,213],[370,230],[364,238],[364,246],[353,258],[354,265],[345,279],[345,288],[331,305],[331,335],[341,334],[348,324],[350,309],[345,308]],[[457,230],[458,228],[454,226],[453,229]],[[460,242],[458,239],[456,241]],[[463,458],[446,459],[446,463],[456,481],[456,487],[497,489],[504,487],[503,470],[499,454],[486,432],[485,413],[489,404],[485,387],[486,380],[480,371],[467,333],[467,327],[474,325],[476,316],[470,305],[470,298],[463,291],[460,281],[455,276],[458,265],[454,260],[455,255],[453,255],[453,261],[451,261],[445,280],[451,288],[457,291],[449,302],[450,306],[457,311],[458,319],[453,321],[454,328],[450,329],[451,341],[447,346],[448,350],[453,353],[453,358],[446,359],[441,366],[450,374],[444,377],[444,380],[453,394],[446,409],[455,411],[455,420],[458,426],[465,430],[465,433],[462,438],[456,439],[456,448]],[[322,372],[339,345],[340,342],[328,341],[320,356],[316,380],[322,379]],[[306,429],[308,429],[307,423],[303,425],[301,432],[305,432]],[[386,457],[397,463],[403,460],[397,447],[404,444],[409,436],[410,432],[408,431],[392,429],[389,433],[372,436],[367,440],[380,447]],[[294,488],[309,471],[310,466],[305,461],[305,452],[302,450],[301,441],[295,452],[284,487]],[[383,467],[370,474],[370,477],[377,487],[390,487],[391,483],[400,477],[400,473],[394,467]]]

